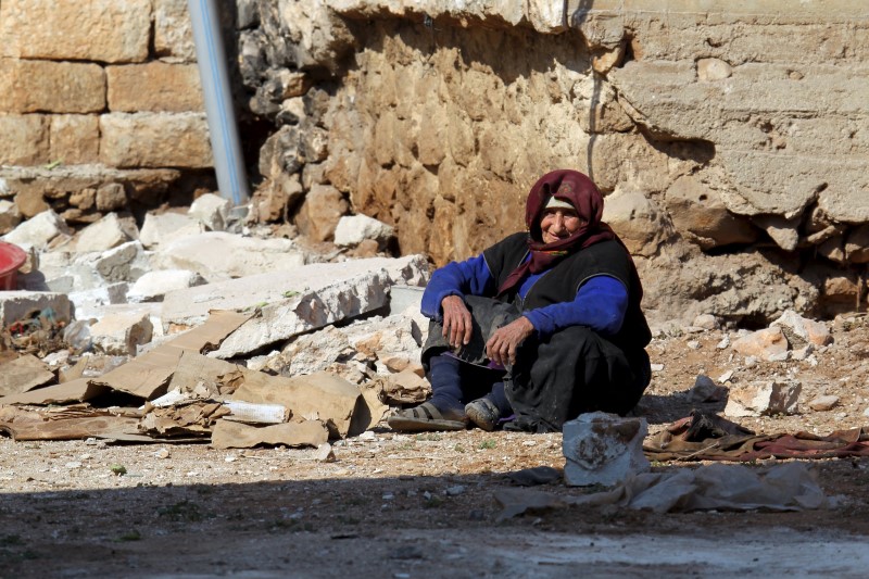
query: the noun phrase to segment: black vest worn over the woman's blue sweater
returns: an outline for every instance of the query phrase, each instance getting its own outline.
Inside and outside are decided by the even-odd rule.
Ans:
[[[496,287],[500,288],[525,261],[528,254],[527,239],[528,234],[514,234],[483,251],[483,259],[496,280]],[[615,277],[628,288],[625,322],[619,331],[607,339],[626,351],[645,348],[652,340],[652,332],[640,309],[640,278],[628,252],[618,241],[601,241],[561,260],[531,286],[524,300],[518,297],[521,284],[516,284],[499,299],[515,302],[521,311],[570,302],[582,284],[599,275]]]

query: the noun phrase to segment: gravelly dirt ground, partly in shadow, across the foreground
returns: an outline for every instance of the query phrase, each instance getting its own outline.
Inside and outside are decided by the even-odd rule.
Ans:
[[[834,343],[813,357],[753,365],[717,348],[723,330],[655,338],[648,351],[663,367],[637,414],[654,433],[688,415],[698,374],[718,380],[732,370],[733,383],[778,376],[803,385],[801,414],[734,419],[755,431],[862,426],[869,329],[862,317],[830,325]],[[809,410],[820,394],[840,402]],[[723,402],[703,407],[720,412]],[[822,511],[565,507],[499,520],[493,493],[512,486],[509,473],[564,466],[559,435],[398,435],[383,427],[333,450],[337,460],[325,463],[306,449],[0,439],[0,575],[861,577],[869,564],[867,460],[811,462],[835,498]],[[541,489],[589,492],[562,482]]]

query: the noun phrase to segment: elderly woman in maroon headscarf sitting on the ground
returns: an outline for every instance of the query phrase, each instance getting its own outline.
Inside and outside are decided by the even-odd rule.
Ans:
[[[585,175],[549,173],[528,196],[527,232],[434,272],[423,294],[432,397],[391,416],[392,429],[559,431],[581,413],[633,408],[651,332],[603,204]]]

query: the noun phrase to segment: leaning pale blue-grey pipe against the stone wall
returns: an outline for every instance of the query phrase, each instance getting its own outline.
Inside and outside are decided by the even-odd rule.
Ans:
[[[217,187],[221,197],[230,200],[235,205],[241,205],[249,198],[248,178],[232,109],[232,95],[229,91],[229,74],[216,2],[187,0],[187,5],[193,24],[193,42],[197,47],[199,76],[209,118]]]

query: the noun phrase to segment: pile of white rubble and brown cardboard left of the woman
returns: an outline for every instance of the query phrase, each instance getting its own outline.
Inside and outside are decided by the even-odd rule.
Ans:
[[[427,395],[427,261],[348,255],[391,235],[344,217],[324,255],[251,230],[213,194],[141,229],[36,215],[4,237],[29,263],[22,289],[0,292],[0,430],[218,448],[361,433]]]

